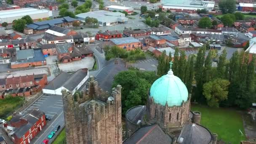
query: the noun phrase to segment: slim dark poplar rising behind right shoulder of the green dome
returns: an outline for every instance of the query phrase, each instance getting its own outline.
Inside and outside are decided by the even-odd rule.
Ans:
[[[177,77],[179,77],[182,81],[184,81],[185,78],[186,61],[186,53],[185,51],[181,51],[178,61],[179,67]]]

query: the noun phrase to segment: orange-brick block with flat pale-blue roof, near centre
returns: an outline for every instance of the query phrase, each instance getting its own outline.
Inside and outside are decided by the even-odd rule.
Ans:
[[[122,37],[110,39],[112,45],[124,48],[126,51],[132,51],[136,48],[141,48],[141,42],[134,37]]]

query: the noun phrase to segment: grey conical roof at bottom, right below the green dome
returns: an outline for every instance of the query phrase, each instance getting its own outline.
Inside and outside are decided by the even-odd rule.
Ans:
[[[211,139],[211,133],[206,128],[195,123],[187,123],[177,141],[179,144],[209,144]]]

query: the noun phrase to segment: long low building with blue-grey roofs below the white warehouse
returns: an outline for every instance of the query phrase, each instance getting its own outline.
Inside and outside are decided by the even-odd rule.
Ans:
[[[69,16],[64,16],[62,18],[51,19],[46,21],[36,21],[32,24],[27,25],[27,27],[33,29],[33,33],[41,33],[45,32],[53,25],[60,27],[71,26],[74,21],[77,21],[77,19],[71,18]]]

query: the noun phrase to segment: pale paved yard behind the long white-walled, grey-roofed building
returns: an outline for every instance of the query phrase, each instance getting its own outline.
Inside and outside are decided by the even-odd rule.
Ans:
[[[59,69],[64,72],[75,72],[78,69],[92,69],[95,59],[93,57],[85,57],[81,61],[72,61],[70,63],[59,63]]]

